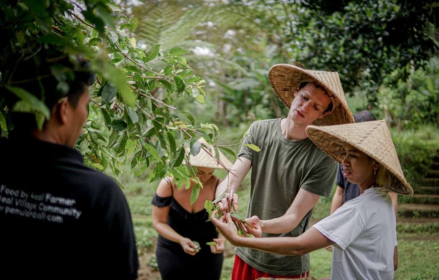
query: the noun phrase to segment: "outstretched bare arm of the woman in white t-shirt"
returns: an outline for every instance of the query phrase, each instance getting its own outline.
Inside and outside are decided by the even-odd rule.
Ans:
[[[253,248],[269,253],[281,255],[302,256],[306,253],[334,244],[331,240],[324,237],[314,228],[308,229],[298,237],[266,237],[266,238],[246,238],[236,234],[236,227],[230,214],[218,220],[214,214],[210,217],[216,228],[234,246]]]

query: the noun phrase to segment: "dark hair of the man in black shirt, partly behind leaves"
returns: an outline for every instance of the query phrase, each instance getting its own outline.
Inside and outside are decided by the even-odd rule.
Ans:
[[[92,85],[96,77],[88,60],[50,48],[42,48],[33,57],[18,62],[10,61],[9,65],[5,73],[6,84],[28,91],[43,101],[49,110],[63,97],[76,107],[85,87]],[[5,97],[10,110],[20,100],[5,87],[0,89],[0,94]],[[33,114],[12,111],[10,116],[15,129],[28,131],[36,128]]]

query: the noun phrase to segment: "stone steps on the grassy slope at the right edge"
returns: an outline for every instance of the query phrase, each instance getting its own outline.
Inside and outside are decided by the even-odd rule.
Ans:
[[[401,197],[398,205],[398,230],[439,232],[439,153],[421,186],[412,186],[412,197]]]

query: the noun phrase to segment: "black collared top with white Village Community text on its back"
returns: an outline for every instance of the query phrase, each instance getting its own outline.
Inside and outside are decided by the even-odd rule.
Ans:
[[[127,201],[75,149],[0,139],[0,278],[135,279]]]

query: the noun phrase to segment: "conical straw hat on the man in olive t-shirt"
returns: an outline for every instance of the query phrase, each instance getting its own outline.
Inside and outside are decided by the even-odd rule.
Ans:
[[[268,72],[268,80],[279,99],[287,107],[291,106],[294,92],[299,88],[300,83],[313,82],[325,88],[333,100],[333,110],[330,115],[315,120],[313,125],[331,126],[354,123],[337,72],[305,70],[294,65],[277,64]]]

